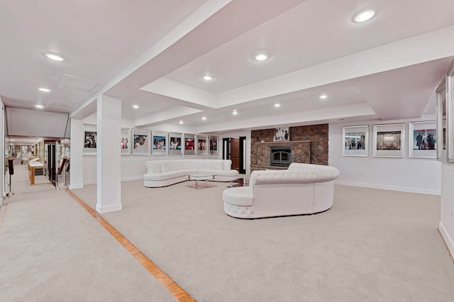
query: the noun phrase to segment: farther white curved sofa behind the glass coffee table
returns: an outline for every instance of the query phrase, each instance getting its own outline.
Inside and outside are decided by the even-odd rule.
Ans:
[[[235,181],[239,172],[231,169],[231,160],[150,160],[143,174],[143,185],[156,188],[189,180],[188,174],[212,174],[211,181]]]

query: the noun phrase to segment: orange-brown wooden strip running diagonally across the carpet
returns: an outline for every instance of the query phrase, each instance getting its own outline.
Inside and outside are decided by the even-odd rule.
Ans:
[[[126,250],[128,250],[128,252],[130,252],[131,255],[133,255],[135,257],[135,259],[137,259],[138,262],[140,262],[140,264],[142,264],[143,267],[145,267],[145,269],[148,270],[148,272],[150,272],[153,276],[155,276],[157,281],[160,281],[160,283],[163,286],[165,286],[165,288],[168,291],[170,291],[170,293],[172,293],[172,295],[175,296],[175,298],[177,298],[178,301],[183,301],[183,302],[195,301],[191,296],[189,296],[189,294],[186,291],[184,291],[184,289],[179,287],[178,284],[175,283],[175,281],[170,279],[169,276],[167,276],[164,272],[162,272],[161,269],[159,267],[157,267],[156,264],[153,263],[153,261],[148,259],[148,257],[143,255],[143,253],[140,252],[140,250],[138,250],[137,247],[135,247],[131,242],[129,242],[129,240],[127,240],[125,237],[123,237],[123,235],[121,235],[121,233],[118,232],[118,230],[116,230],[116,228],[114,228],[106,220],[104,220],[104,218],[102,218],[98,212],[96,212],[96,211],[94,211],[94,209],[90,208],[87,205],[87,203],[84,203],[84,201],[82,201],[79,197],[74,195],[74,193],[72,193],[72,191],[70,191],[68,189],[66,191],[68,194],[70,194],[70,196],[72,196],[72,198],[74,198],[75,201],[77,201],[81,206],[83,206],[85,208],[85,210],[87,210],[94,217],[94,219],[96,219],[99,223],[101,223],[101,225],[104,228],[106,228],[106,230],[108,230],[109,233],[111,233],[111,235],[113,235],[115,237],[115,239],[118,240],[118,242],[120,242],[121,245],[123,245],[123,247],[125,247]]]

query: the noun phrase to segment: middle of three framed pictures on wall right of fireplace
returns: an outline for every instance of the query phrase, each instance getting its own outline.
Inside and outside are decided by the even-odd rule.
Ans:
[[[374,157],[404,157],[404,124],[374,125]]]

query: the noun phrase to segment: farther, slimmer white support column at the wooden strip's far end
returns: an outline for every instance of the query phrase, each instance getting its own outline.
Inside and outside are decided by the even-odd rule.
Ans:
[[[71,118],[70,186],[69,189],[84,187],[84,125],[82,120]]]

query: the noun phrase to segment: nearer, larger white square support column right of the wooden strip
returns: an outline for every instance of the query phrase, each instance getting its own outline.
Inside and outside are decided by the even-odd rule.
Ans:
[[[101,96],[97,104],[96,211],[121,210],[121,99]]]

